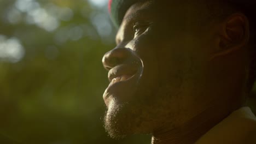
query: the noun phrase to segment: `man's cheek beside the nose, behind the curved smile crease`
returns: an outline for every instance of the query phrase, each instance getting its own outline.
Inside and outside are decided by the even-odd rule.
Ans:
[[[184,71],[189,69],[190,61],[183,39],[166,38],[168,37],[149,29],[127,45],[141,58],[142,82],[149,88],[155,89],[170,83],[177,86],[181,83]]]

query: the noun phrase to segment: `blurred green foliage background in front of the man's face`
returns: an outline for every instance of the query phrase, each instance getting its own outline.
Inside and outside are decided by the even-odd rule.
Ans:
[[[150,143],[147,135],[112,140],[103,128],[101,59],[116,32],[107,0],[0,0],[0,13],[1,135],[24,143]]]

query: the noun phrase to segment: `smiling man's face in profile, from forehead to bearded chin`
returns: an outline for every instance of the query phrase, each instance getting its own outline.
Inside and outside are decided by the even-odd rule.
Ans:
[[[221,58],[213,58],[220,45],[218,25],[202,20],[203,10],[196,3],[146,1],[126,11],[117,46],[102,59],[109,71],[103,99],[110,136],[179,127],[225,101],[223,95],[233,93],[226,89],[242,87],[244,79],[231,79],[243,72],[228,73],[236,55],[221,65]]]

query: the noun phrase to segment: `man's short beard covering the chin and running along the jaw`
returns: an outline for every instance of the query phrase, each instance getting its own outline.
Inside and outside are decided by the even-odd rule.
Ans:
[[[187,89],[186,83],[193,80],[193,69],[191,65],[181,65],[175,71],[159,71],[162,73],[154,73],[157,76],[154,78],[149,74],[142,76],[129,101],[120,103],[118,97],[110,100],[104,117],[104,127],[110,137],[120,139],[132,134],[152,134],[165,126],[178,127],[182,122],[184,113],[190,109],[183,105],[188,97],[184,89]]]

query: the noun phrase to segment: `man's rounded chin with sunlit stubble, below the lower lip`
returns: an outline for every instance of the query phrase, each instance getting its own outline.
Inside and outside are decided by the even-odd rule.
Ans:
[[[104,117],[104,127],[110,137],[121,139],[132,134],[148,134],[152,122],[149,121],[149,107],[138,100],[119,104],[112,99]],[[150,127],[149,127],[150,125]]]

